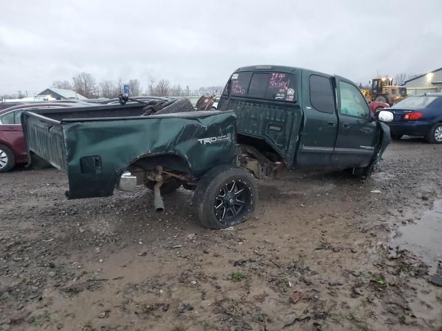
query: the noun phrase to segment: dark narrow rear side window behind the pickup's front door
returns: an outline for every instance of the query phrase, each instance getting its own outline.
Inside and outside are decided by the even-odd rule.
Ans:
[[[320,112],[334,113],[334,99],[330,79],[312,74],[310,76],[310,103]]]

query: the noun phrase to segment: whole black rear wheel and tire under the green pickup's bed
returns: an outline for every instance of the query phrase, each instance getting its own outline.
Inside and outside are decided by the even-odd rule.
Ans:
[[[193,205],[200,225],[224,229],[246,221],[257,199],[258,190],[249,172],[233,165],[218,165],[198,183]]]

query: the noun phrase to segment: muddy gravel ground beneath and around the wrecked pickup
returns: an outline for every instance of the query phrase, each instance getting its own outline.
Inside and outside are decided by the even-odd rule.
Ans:
[[[291,173],[234,230],[182,189],[157,214],[143,188],[67,201],[55,169],[1,174],[0,330],[442,330],[441,168],[408,139],[366,183]]]

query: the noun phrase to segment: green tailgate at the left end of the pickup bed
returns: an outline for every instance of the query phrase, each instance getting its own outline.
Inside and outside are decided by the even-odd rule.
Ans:
[[[66,171],[66,148],[61,123],[33,112],[23,112],[22,126],[28,154],[33,152],[55,168]]]

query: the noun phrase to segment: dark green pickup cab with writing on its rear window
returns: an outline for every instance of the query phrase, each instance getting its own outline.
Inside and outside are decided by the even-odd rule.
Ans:
[[[352,81],[313,70],[238,68],[218,109],[236,112],[240,146],[289,170],[367,168],[390,142],[387,126],[374,120]]]

